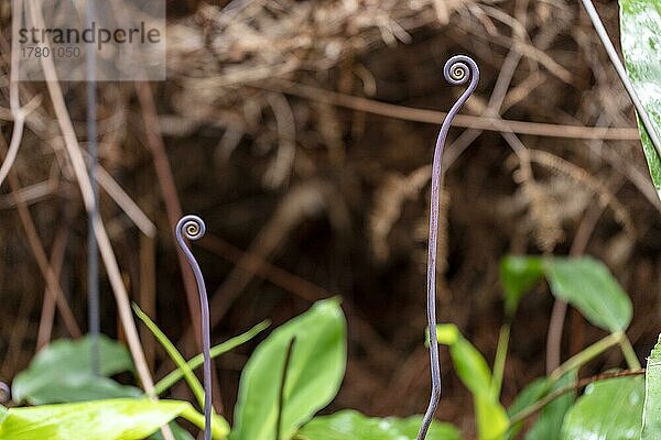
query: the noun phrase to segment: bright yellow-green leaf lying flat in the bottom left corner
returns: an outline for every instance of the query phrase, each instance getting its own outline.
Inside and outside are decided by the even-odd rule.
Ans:
[[[189,410],[185,402],[150,399],[11,408],[0,440],[141,440]]]

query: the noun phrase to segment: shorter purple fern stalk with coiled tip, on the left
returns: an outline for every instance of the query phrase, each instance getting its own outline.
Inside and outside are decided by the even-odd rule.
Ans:
[[[195,274],[197,282],[197,292],[199,293],[199,304],[202,308],[202,352],[204,355],[204,440],[212,439],[212,330],[209,323],[209,299],[204,283],[204,276],[199,264],[195,260],[193,252],[186,244],[188,240],[199,240],[206,232],[204,221],[197,216],[185,216],[177,223],[175,229],[176,242],[188,260],[191,268]]]

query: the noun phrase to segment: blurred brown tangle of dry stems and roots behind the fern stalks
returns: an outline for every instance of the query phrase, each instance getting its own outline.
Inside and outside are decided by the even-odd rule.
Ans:
[[[0,4],[3,109],[9,3]],[[617,38],[617,2],[597,8]],[[169,220],[177,204],[207,222],[209,237],[195,253],[213,295],[214,341],[340,295],[349,363],[330,408],[424,410],[430,164],[441,112],[463,90],[443,79],[445,61],[457,53],[481,68],[463,110],[481,119],[457,119],[445,155],[438,320],[458,324],[491,361],[502,321],[499,258],[586,253],[603,258],[631,295],[629,336],[639,355],[655,342],[661,201],[630,102],[578,2],[169,1],[167,44],[169,80],[149,85],[151,96],[147,84],[99,87],[101,165],[158,233],[141,234],[104,191],[101,211],[132,298],[187,354],[196,346],[185,338],[191,318]],[[84,145],[85,86],[62,87]],[[43,105],[28,118],[14,165],[19,198],[46,253],[64,249],[62,288],[86,329],[85,210],[45,85],[21,84],[23,103],[37,94]],[[494,128],[485,117],[518,122]],[[2,151],[11,128],[0,118]],[[48,331],[52,311],[44,312],[44,279],[15,194],[7,183],[1,193],[0,378],[10,381],[37,343],[68,334],[59,316]],[[102,279],[102,330],[121,338]],[[540,287],[519,310],[506,403],[544,373],[552,304]],[[600,336],[570,312],[563,358]],[[162,375],[166,356],[151,337],[144,341]],[[216,362],[227,415],[253,346]],[[584,374],[621,361],[602,358]],[[445,350],[442,362],[438,416],[470,432],[470,396]]]

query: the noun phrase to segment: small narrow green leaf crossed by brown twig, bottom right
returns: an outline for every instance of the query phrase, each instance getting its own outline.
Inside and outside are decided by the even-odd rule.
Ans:
[[[555,381],[550,393],[576,382],[576,371],[571,371]],[[525,440],[559,440],[562,421],[567,410],[574,404],[574,393],[565,393],[546,405],[530,431],[525,435]]]

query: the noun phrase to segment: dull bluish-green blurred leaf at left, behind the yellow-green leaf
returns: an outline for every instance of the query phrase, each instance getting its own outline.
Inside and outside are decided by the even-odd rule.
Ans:
[[[142,395],[140,389],[107,377],[133,370],[126,346],[99,336],[99,366],[104,377],[94,374],[90,353],[89,337],[52,342],[34,356],[25,371],[17,375],[12,383],[13,399],[44,405]]]

